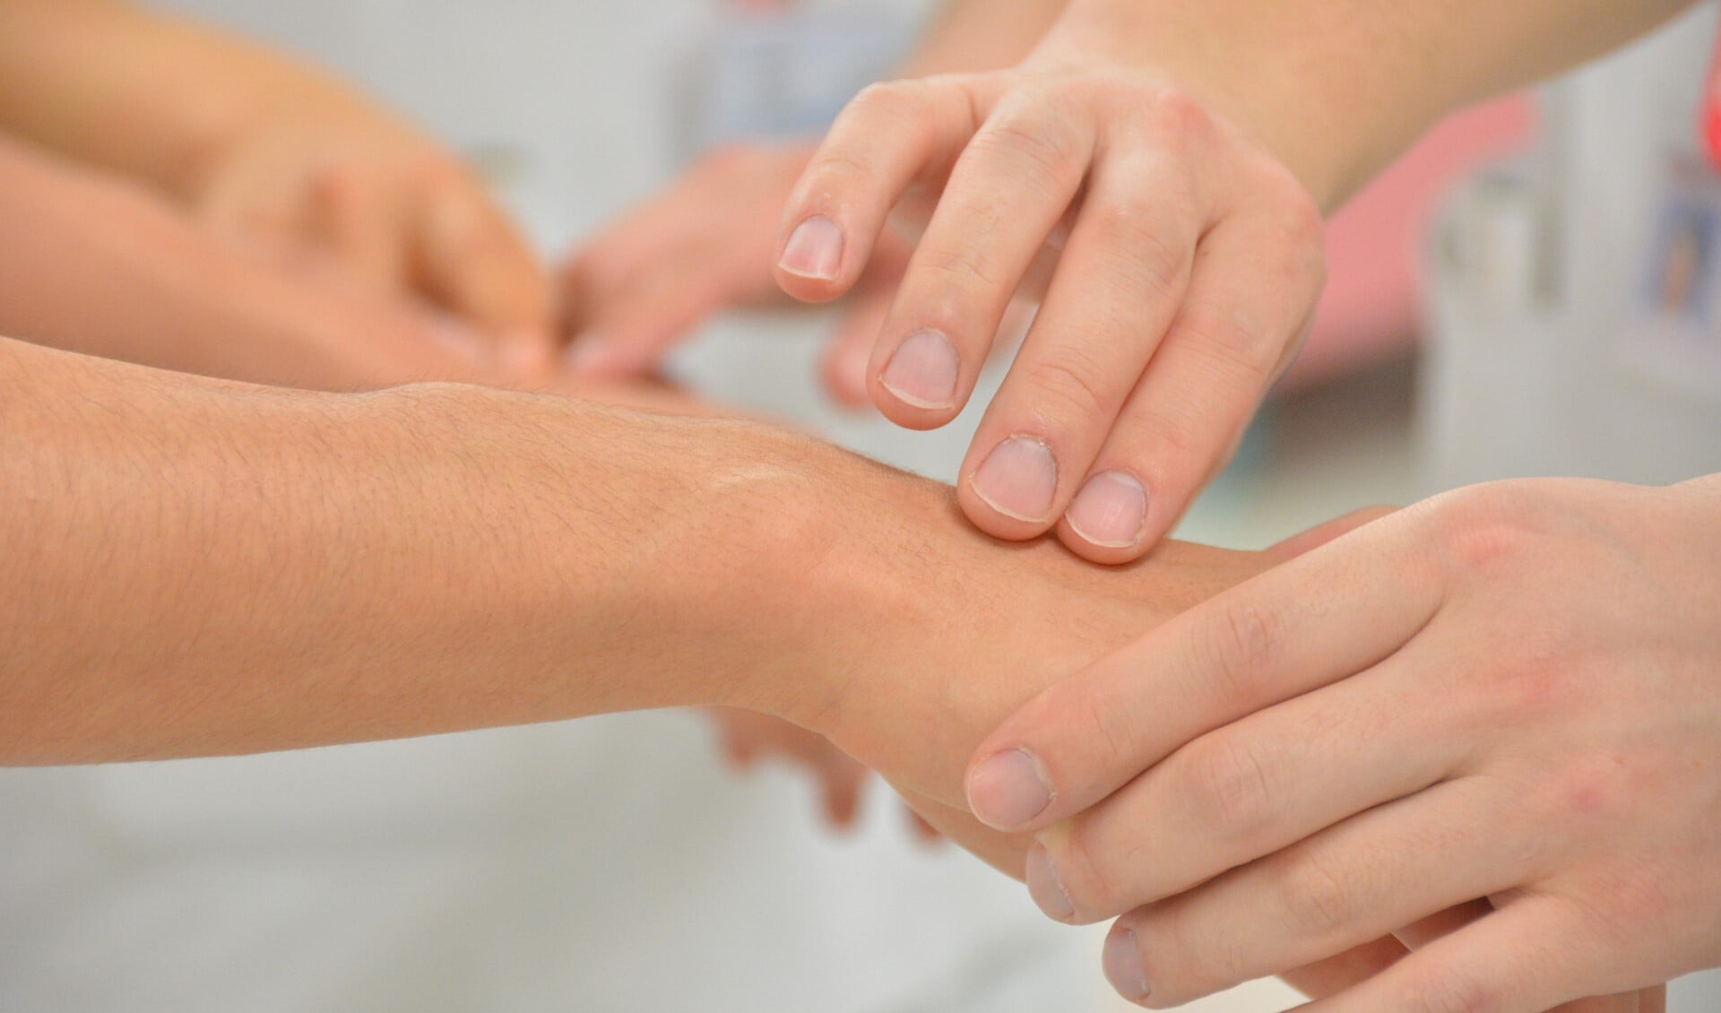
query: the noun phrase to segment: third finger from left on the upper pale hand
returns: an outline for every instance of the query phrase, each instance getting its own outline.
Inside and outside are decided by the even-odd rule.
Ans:
[[[1069,507],[1182,303],[1208,210],[1167,150],[1105,163],[962,466],[962,509],[983,531],[1036,537]],[[1141,483],[1115,478],[1119,518],[1139,530]]]

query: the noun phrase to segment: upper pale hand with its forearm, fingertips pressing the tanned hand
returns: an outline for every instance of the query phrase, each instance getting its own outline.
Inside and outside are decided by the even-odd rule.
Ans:
[[[788,201],[778,280],[842,296],[893,208],[929,217],[867,370],[910,428],[955,418],[1010,298],[1045,285],[964,513],[1134,559],[1299,347],[1322,213],[1442,114],[1687,5],[1074,0],[1015,69],[862,93]]]

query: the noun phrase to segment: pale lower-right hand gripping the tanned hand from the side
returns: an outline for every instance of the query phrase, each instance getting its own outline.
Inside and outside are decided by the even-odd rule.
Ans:
[[[1112,975],[1153,1004],[1478,898],[1313,1010],[1535,1013],[1721,963],[1718,533],[1718,478],[1428,500],[1052,688],[971,801],[1052,827],[1036,896],[1124,915]]]

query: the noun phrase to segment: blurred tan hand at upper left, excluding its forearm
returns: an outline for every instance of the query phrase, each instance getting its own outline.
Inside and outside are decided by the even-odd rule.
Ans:
[[[355,95],[274,88],[284,95],[260,101],[200,158],[186,187],[196,212],[463,318],[501,368],[547,370],[556,349],[544,272],[472,172]]]

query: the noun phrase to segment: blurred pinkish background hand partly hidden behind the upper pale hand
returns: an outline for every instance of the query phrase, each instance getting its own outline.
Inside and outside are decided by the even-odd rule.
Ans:
[[[716,150],[575,253],[563,268],[575,373],[645,375],[714,313],[781,301],[771,275],[776,220],[809,155],[807,146]],[[831,339],[824,382],[847,404],[866,402],[866,359],[905,263],[907,246],[883,237]]]

